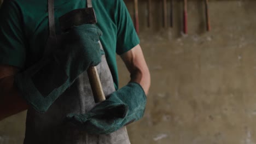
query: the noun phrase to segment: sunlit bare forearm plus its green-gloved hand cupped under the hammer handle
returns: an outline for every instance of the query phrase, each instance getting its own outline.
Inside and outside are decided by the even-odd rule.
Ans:
[[[131,81],[85,114],[70,113],[68,121],[89,134],[109,134],[138,121],[144,115],[150,74],[141,47],[121,55],[131,74]]]

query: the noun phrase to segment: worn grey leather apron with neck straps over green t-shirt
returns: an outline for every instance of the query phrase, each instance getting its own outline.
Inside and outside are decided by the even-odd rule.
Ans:
[[[88,1],[90,7],[91,0]],[[49,38],[45,46],[45,53],[61,43],[61,35],[55,34],[54,0],[48,0]],[[115,91],[112,74],[110,73],[106,57],[97,65],[98,74],[104,94],[107,96]],[[90,135],[79,130],[75,125],[66,121],[67,113],[86,113],[96,104],[92,95],[90,82],[86,71],[78,76],[69,87],[50,106],[46,113],[39,113],[30,108],[27,111],[25,144],[129,144],[129,136],[125,127],[108,135]]]

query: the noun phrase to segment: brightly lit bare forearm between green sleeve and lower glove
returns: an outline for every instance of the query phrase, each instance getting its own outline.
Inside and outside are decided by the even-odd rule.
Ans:
[[[150,73],[141,46],[137,45],[133,47],[133,49],[121,55],[121,58],[131,74],[130,82],[139,83],[144,89],[144,92],[148,94],[150,87]]]

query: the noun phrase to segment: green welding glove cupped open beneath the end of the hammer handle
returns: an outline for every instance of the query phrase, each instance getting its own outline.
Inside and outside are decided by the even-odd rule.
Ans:
[[[138,121],[144,115],[146,94],[141,85],[135,82],[110,94],[109,97],[96,105],[88,113],[68,114],[67,119],[89,134],[109,134]]]

